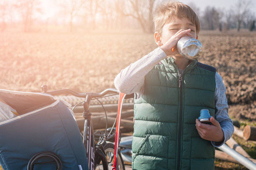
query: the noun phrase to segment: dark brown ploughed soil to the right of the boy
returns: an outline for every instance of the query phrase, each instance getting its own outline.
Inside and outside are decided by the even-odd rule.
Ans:
[[[256,34],[202,33],[204,54],[200,62],[217,68],[227,89],[229,115],[236,120],[256,120]]]

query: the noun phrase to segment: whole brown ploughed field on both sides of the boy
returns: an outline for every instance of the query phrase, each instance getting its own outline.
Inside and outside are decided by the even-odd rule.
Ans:
[[[227,88],[229,114],[256,120],[256,32],[202,31],[199,59],[217,68]],[[0,88],[39,91],[114,87],[121,69],[156,48],[153,34],[0,33]]]

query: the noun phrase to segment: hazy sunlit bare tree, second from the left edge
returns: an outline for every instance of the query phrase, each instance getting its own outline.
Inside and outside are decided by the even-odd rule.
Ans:
[[[31,25],[33,23],[33,15],[41,13],[39,0],[19,0],[17,1],[16,8],[18,9],[24,25],[24,32],[31,31]]]

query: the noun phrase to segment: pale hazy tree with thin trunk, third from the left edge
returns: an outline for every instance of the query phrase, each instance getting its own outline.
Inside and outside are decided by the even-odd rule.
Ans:
[[[85,0],[65,0],[59,3],[60,13],[69,16],[69,31],[73,32],[73,20],[84,6]]]

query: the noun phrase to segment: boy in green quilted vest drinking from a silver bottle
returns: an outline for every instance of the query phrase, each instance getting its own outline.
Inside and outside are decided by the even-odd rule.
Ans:
[[[189,6],[166,2],[154,23],[159,47],[114,80],[120,92],[135,93],[132,169],[214,170],[214,147],[234,131],[225,86],[214,67],[172,52],[181,37],[198,37],[199,19]],[[202,109],[211,125],[197,119]]]

